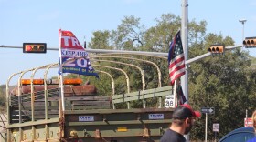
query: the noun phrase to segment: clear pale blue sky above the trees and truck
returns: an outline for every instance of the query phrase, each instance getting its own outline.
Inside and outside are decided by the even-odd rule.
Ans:
[[[244,37],[256,36],[255,0],[187,0],[187,3],[188,21],[207,21],[207,33],[230,36],[236,45],[242,43],[243,30]],[[116,29],[124,16],[140,18],[146,28],[154,26],[155,19],[163,14],[181,16],[181,4],[182,0],[0,0],[0,46],[35,42],[58,48],[59,28],[73,32],[80,43],[84,38],[90,42],[93,32]],[[240,19],[247,21],[242,25]],[[244,50],[256,57],[256,49]],[[25,54],[22,49],[0,48],[0,60],[0,85],[4,85],[15,73],[58,63],[59,52]],[[57,76],[56,70],[50,70],[49,76]],[[27,73],[24,78],[30,76]],[[10,85],[16,85],[17,79],[18,76],[11,79]]]

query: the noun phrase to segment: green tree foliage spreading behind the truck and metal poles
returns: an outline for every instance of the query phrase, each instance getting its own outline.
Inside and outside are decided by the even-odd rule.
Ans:
[[[125,16],[121,25],[117,29],[95,31],[89,43],[93,49],[118,49],[134,51],[168,52],[169,44],[176,32],[181,27],[181,18],[172,14],[164,14],[155,19],[155,26],[146,29],[140,23],[140,18]],[[196,22],[194,19],[188,23],[188,56],[193,58],[208,52],[208,47],[213,44],[234,45],[231,37],[223,37],[213,33],[206,33],[207,22]],[[117,56],[112,61],[96,61],[93,56],[98,56],[98,60],[110,60],[103,56]],[[114,94],[128,92],[127,80],[129,78],[131,92],[143,89],[142,74],[134,66],[139,66],[144,71],[145,89],[159,86],[159,73],[155,66],[128,58],[135,57],[144,61],[152,61],[159,66],[161,71],[161,84],[168,86],[168,63],[166,58],[146,55],[92,55],[91,62],[93,68],[99,73],[100,79],[94,76],[78,76],[69,74],[68,78],[80,77],[84,82],[97,87],[100,96],[112,96],[112,78],[114,79]],[[100,57],[100,58],[99,58]],[[133,64],[134,66],[123,65]],[[224,55],[208,56],[188,66],[188,87],[189,104],[195,109],[210,106],[215,108],[214,115],[208,115],[208,139],[214,139],[212,124],[220,124],[219,137],[224,136],[229,131],[243,127],[243,118],[246,109],[249,114],[255,109],[256,102],[256,59],[249,56],[248,52],[240,48],[226,51]],[[97,65],[97,66],[96,66]],[[101,65],[101,67],[99,66]],[[104,67],[102,67],[104,66]],[[106,66],[111,66],[108,68]],[[122,68],[127,73],[113,68]],[[108,74],[104,73],[107,72]],[[157,100],[146,100],[148,106],[155,107]],[[0,106],[5,106],[5,87],[0,87]],[[142,102],[131,102],[131,106],[142,107]],[[126,108],[126,104],[119,104],[117,108]],[[197,121],[195,128],[191,132],[192,140],[204,139],[205,115]]]

